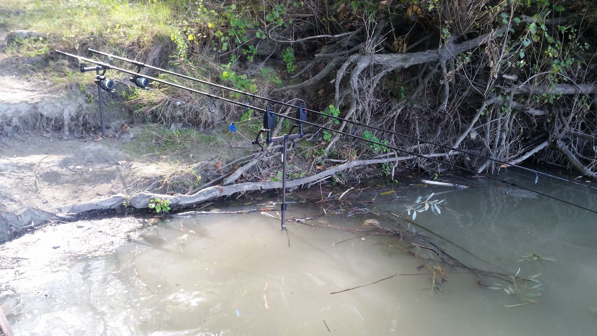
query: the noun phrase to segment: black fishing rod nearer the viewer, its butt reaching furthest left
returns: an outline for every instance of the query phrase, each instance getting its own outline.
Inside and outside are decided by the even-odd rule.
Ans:
[[[275,113],[275,112],[272,111],[271,106],[270,106],[269,109],[262,109],[262,108],[258,108],[256,106],[248,105],[247,103],[235,102],[234,100],[228,99],[226,97],[220,97],[220,96],[216,96],[216,95],[211,94],[211,93],[207,93],[207,92],[195,90],[194,88],[189,88],[189,87],[186,87],[184,85],[171,83],[171,82],[168,82],[168,81],[165,81],[165,80],[161,80],[161,79],[155,78],[155,77],[150,77],[150,76],[147,76],[147,75],[141,75],[138,72],[133,72],[133,71],[129,71],[127,69],[118,68],[116,66],[109,65],[109,64],[106,64],[106,63],[103,63],[103,62],[99,62],[99,61],[96,61],[96,60],[87,59],[85,57],[76,56],[74,54],[64,53],[64,51],[56,50],[56,53],[62,54],[64,56],[73,57],[75,59],[78,59],[79,62],[82,61],[82,62],[94,63],[94,64],[96,64],[98,66],[101,66],[102,68],[105,68],[105,69],[113,69],[113,70],[116,70],[116,71],[124,72],[125,74],[130,74],[130,75],[133,75],[133,76],[144,77],[144,78],[147,78],[148,80],[152,80],[152,81],[155,81],[157,83],[171,85],[173,87],[177,87],[177,88],[180,88],[182,90],[187,90],[187,91],[190,91],[190,92],[198,93],[198,94],[201,94],[203,96],[210,97],[210,98],[212,98],[214,100],[221,100],[223,102],[232,103],[233,105],[238,105],[238,106],[242,106],[244,108],[254,109],[256,111],[264,112],[264,114],[265,114],[264,115],[264,126],[269,126],[269,121],[266,121],[266,120],[270,120],[270,118],[272,118],[272,116],[277,116],[277,117],[287,118],[288,120],[298,121],[298,123],[303,123],[303,124],[307,124],[307,125],[310,125],[310,126],[319,127],[320,129],[323,129],[323,130],[329,130],[330,132],[338,133],[338,134],[345,135],[345,136],[350,136],[351,138],[354,138],[354,139],[358,139],[358,140],[362,140],[362,141],[365,141],[365,142],[369,142],[369,143],[374,143],[374,144],[377,144],[377,145],[381,145],[380,143],[375,142],[375,141],[373,141],[371,139],[365,139],[365,138],[362,138],[360,136],[355,136],[355,135],[352,135],[350,133],[346,133],[346,132],[343,132],[343,131],[340,131],[340,130],[331,129],[330,127],[325,127],[325,126],[318,125],[318,124],[315,124],[315,123],[310,123],[309,121],[303,121],[303,120],[301,120],[301,118],[293,118],[293,117],[290,117],[288,115]],[[269,140],[270,131],[271,131],[271,129],[269,129],[269,130],[262,129],[259,132],[259,134],[261,134],[262,132],[266,132],[267,135],[268,135],[268,140]],[[257,136],[257,138],[259,138],[259,135]],[[284,137],[277,137],[277,138],[284,138]],[[271,138],[271,139],[275,139],[275,138]],[[280,139],[276,139],[276,140],[280,141]],[[284,139],[281,139],[281,140],[284,140]],[[259,144],[259,141],[256,139],[253,143],[254,144]],[[424,155],[417,154],[415,152],[406,151],[405,149],[400,149],[400,148],[397,148],[397,147],[392,146],[392,145],[381,145],[381,146],[394,149],[395,151],[398,151],[398,152],[404,152],[404,153],[407,153],[409,155],[414,155],[416,157],[420,157],[420,158],[424,158],[424,159],[427,159],[427,160],[431,160],[431,161],[434,161],[434,162],[437,162],[437,163],[440,163],[440,164],[447,164],[448,166],[455,167],[457,169],[465,170],[465,171],[473,173],[473,174],[478,174],[478,175],[485,176],[485,177],[490,178],[490,179],[494,179],[496,181],[500,181],[500,182],[506,184],[506,186],[507,186],[506,187],[506,194],[508,193],[510,186],[514,186],[514,187],[518,187],[518,188],[521,188],[521,189],[524,189],[524,190],[527,190],[527,191],[531,191],[531,193],[536,193],[536,194],[544,196],[544,197],[549,197],[549,198],[552,198],[554,200],[561,201],[562,203],[566,203],[566,204],[569,204],[569,205],[572,205],[572,206],[579,207],[580,209],[584,209],[584,210],[587,210],[589,212],[597,213],[597,210],[588,209],[587,207],[571,203],[570,201],[562,200],[561,198],[550,196],[550,195],[541,193],[540,191],[532,190],[532,189],[527,188],[527,187],[522,187],[521,185],[518,185],[518,184],[515,184],[515,183],[512,183],[512,182],[507,182],[506,180],[503,180],[503,179],[500,179],[500,178],[496,178],[495,176],[487,175],[485,173],[478,173],[478,172],[475,172],[474,170],[470,170],[470,169],[467,169],[467,168],[464,168],[464,167],[460,167],[460,166],[457,166],[456,164],[453,164],[453,163],[448,163],[448,162],[445,162],[445,161],[436,160],[435,158],[426,157]],[[263,147],[261,147],[261,150],[263,151]]]

